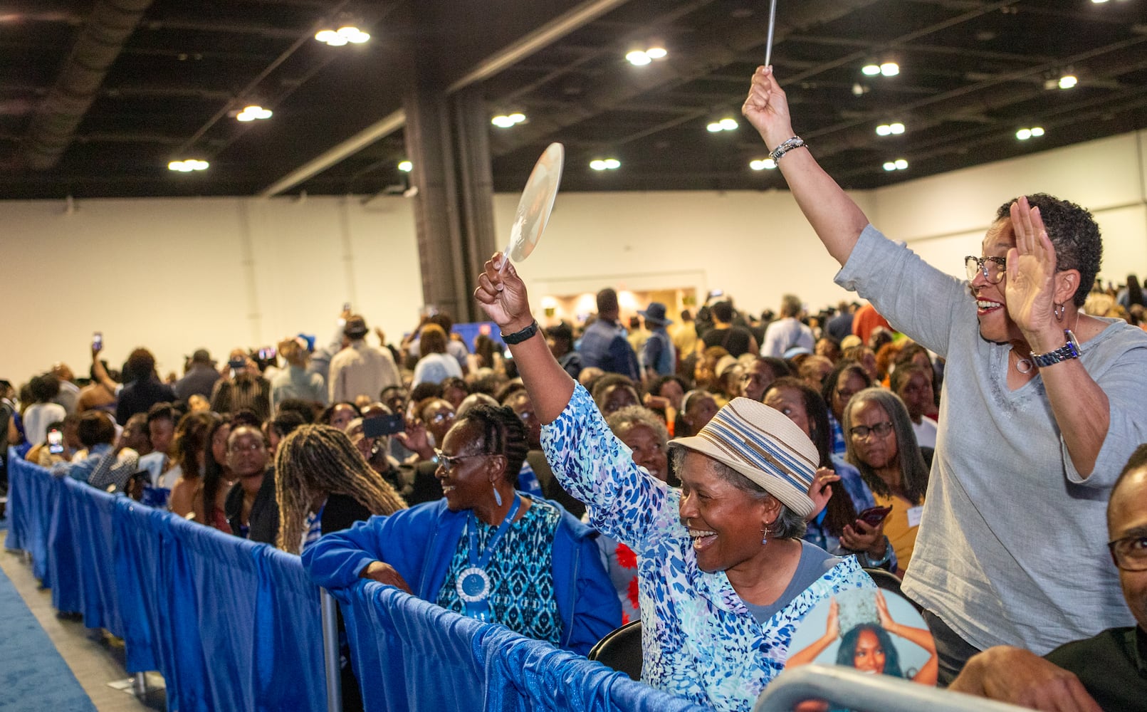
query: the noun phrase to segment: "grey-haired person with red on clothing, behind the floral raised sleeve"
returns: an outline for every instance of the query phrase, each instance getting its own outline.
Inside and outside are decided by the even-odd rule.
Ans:
[[[662,482],[669,480],[669,431],[648,408],[629,406],[617,410],[606,422],[631,451],[633,463]],[[608,534],[598,535],[598,548],[606,561],[609,579],[622,603],[622,623],[641,616],[638,602],[638,557],[633,549]]]

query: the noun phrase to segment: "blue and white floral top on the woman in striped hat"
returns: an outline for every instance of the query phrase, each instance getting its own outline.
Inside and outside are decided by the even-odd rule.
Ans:
[[[541,446],[592,524],[638,555],[641,680],[653,687],[716,710],[751,710],[783,670],[804,616],[842,590],[874,587],[849,557],[758,624],[723,571],[697,569],[678,516],[680,492],[633,463],[584,388],[543,428]]]

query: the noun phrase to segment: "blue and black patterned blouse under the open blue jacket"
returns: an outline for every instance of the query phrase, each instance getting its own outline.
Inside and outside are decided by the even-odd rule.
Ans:
[[[535,640],[559,644],[562,617],[554,597],[554,530],[561,514],[545,501],[531,499],[530,508],[508,530],[490,558],[490,612],[494,623]],[[469,526],[469,524],[467,524]],[[485,551],[497,525],[478,521],[478,551]],[[463,530],[450,561],[436,603],[466,615],[458,597],[458,572],[469,563],[469,537]]]

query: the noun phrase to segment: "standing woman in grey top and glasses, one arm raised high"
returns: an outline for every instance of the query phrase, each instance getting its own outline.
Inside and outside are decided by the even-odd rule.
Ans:
[[[841,264],[836,283],[945,359],[935,471],[904,581],[936,635],[941,681],[990,646],[1046,652],[1126,625],[1095,542],[1116,474],[1147,440],[1147,335],[1079,308],[1102,253],[1094,218],[1050,195],[1008,201],[982,217],[978,257],[955,279],[868,224],[794,133],[771,69],[754,73],[741,110]],[[924,210],[972,229],[978,199],[945,195]]]

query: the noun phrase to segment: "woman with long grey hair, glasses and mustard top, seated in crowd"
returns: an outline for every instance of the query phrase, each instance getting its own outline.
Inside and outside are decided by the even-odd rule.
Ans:
[[[899,562],[897,573],[912,561],[928,465],[912,432],[912,420],[899,397],[881,388],[865,389],[844,408],[845,460],[860,470],[879,507],[891,507],[884,533]]]

